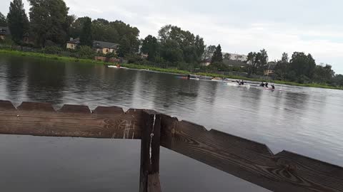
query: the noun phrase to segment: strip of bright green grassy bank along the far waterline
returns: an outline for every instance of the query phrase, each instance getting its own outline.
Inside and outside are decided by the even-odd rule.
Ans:
[[[30,57],[38,57],[38,58],[47,58],[47,59],[54,59],[54,60],[66,60],[71,62],[79,62],[79,63],[96,63],[101,65],[109,65],[109,63],[104,63],[102,61],[96,61],[91,59],[79,59],[79,58],[71,58],[71,57],[65,57],[61,55],[51,55],[51,54],[44,54],[44,53],[29,53],[29,52],[21,52],[17,50],[0,50],[0,53],[2,54],[11,54],[11,55],[21,55],[21,56],[30,56]],[[126,68],[132,68],[132,69],[149,69],[154,70],[161,73],[174,73],[179,75],[186,75],[189,74],[189,71],[187,70],[177,70],[174,68],[156,68],[154,66],[149,65],[136,65],[136,64],[122,64],[123,67]],[[251,80],[251,81],[263,81],[261,79],[254,79],[254,78],[246,78],[242,76],[234,76],[234,75],[219,75],[215,73],[196,73],[195,75],[204,75],[209,77],[219,77],[219,78],[232,78],[237,80]],[[343,87],[333,87],[330,85],[322,85],[317,83],[308,83],[308,84],[302,84],[297,82],[287,82],[287,81],[280,81],[280,80],[272,80],[274,83],[278,84],[284,84],[284,85],[294,85],[294,86],[302,86],[302,87],[319,87],[319,88],[327,88],[327,89],[336,89],[336,90],[343,90]]]

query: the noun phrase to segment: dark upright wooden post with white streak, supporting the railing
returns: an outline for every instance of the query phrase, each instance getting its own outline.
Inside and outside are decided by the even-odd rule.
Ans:
[[[159,142],[161,115],[151,110],[142,112],[141,170],[139,192],[161,191],[159,183]]]

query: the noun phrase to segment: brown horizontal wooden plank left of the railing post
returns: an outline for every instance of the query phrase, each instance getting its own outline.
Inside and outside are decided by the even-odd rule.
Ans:
[[[8,102],[3,103],[9,106]],[[0,107],[1,105],[0,103]],[[0,110],[0,134],[141,139],[140,110],[130,114],[119,110],[111,114],[91,114],[84,113],[84,110],[49,112],[46,107],[40,107],[42,105],[27,106],[29,105],[26,104],[21,110]]]

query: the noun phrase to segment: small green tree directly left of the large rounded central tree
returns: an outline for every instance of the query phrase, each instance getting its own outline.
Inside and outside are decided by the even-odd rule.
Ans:
[[[154,61],[158,53],[159,43],[154,36],[146,36],[141,44],[141,53],[148,54],[148,60]]]

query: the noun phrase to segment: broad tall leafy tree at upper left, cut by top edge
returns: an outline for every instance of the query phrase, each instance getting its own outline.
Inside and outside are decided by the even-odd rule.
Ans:
[[[39,46],[46,41],[64,44],[72,22],[68,16],[69,8],[63,0],[29,0],[31,32]]]

